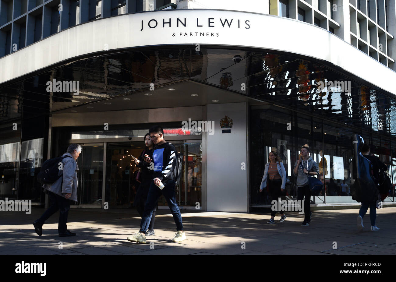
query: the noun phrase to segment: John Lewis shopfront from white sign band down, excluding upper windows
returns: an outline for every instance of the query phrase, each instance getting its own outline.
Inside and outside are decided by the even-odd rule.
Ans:
[[[315,34],[326,48],[307,46],[301,32]],[[127,148],[135,146],[133,154],[141,149],[143,131],[155,123],[173,132],[167,140],[187,155],[179,205],[195,208],[198,202],[208,211],[268,204],[257,188],[273,147],[289,171],[299,147],[310,144],[318,162],[320,151],[327,160],[325,179],[338,177],[336,183],[342,180],[337,171],[349,181],[353,133],[369,140],[390,166],[396,156],[392,80],[382,79],[395,73],[326,30],[292,19],[220,10],[132,13],[62,30],[0,63],[20,66],[0,76],[7,179],[0,191],[8,198],[29,192],[43,202],[34,182],[42,160],[83,143],[80,206],[129,207],[132,169],[123,167],[122,157]],[[46,92],[54,79],[78,81],[80,89]],[[317,90],[319,82],[330,81],[350,82],[350,95]],[[189,118],[213,121],[214,134],[181,133]],[[222,128],[223,119],[232,126]],[[40,149],[24,145],[36,139]],[[25,173],[32,152],[34,166]],[[331,193],[316,204],[350,202]]]

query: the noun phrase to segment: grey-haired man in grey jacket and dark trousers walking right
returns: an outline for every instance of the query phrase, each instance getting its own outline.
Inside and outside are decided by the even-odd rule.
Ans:
[[[42,235],[42,226],[45,221],[59,210],[58,232],[59,237],[76,236],[67,230],[67,216],[70,210],[70,200],[77,201],[77,158],[81,153],[81,145],[71,144],[67,148],[67,152],[62,157],[62,167],[58,172],[61,176],[52,184],[44,184],[43,188],[48,192],[51,202],[48,210],[33,222],[34,230],[38,236]]]

